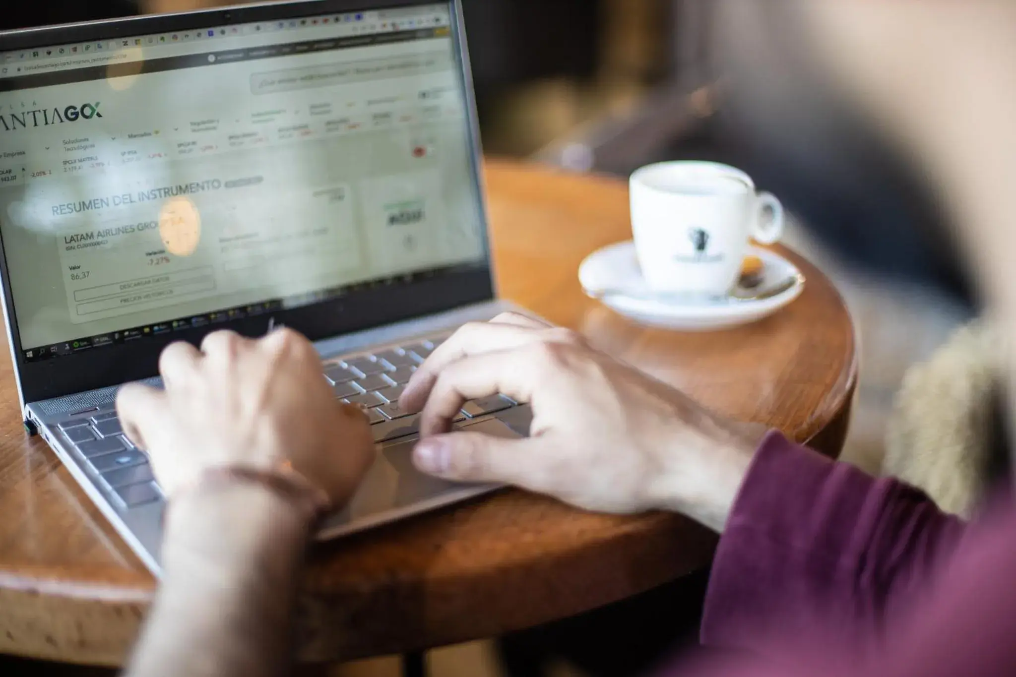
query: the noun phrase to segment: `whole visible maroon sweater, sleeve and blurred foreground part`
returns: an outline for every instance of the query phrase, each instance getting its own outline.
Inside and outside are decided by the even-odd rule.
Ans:
[[[703,644],[724,663],[670,674],[1016,675],[1016,510],[1000,507],[967,527],[770,433],[706,597]]]

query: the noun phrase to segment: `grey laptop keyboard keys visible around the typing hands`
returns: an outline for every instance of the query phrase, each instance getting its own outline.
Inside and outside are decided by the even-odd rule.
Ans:
[[[417,434],[420,415],[402,411],[398,399],[418,365],[430,356],[443,339],[419,341],[403,347],[329,360],[324,377],[335,399],[360,406],[367,413],[374,442],[390,442]],[[496,395],[467,402],[455,422],[480,418],[517,406]],[[74,418],[59,424],[60,430],[120,501],[134,507],[163,498],[148,457],[126,435],[115,411],[97,412],[91,417]]]

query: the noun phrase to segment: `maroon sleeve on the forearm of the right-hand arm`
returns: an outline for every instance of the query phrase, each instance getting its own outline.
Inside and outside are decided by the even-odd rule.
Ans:
[[[964,529],[912,487],[770,433],[719,542],[703,644],[764,653],[773,635],[834,637],[859,658],[877,653]]]

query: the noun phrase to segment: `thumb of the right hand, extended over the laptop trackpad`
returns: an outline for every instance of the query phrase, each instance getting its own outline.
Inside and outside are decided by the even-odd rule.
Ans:
[[[480,432],[427,437],[412,461],[423,473],[459,482],[498,482],[533,491],[547,485],[549,457],[543,438],[506,439]]]

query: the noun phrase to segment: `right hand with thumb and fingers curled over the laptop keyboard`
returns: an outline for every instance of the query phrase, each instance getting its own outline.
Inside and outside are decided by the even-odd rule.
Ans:
[[[531,405],[529,438],[445,434],[465,401],[496,393]],[[515,314],[467,325],[441,344],[400,405],[423,410],[414,461],[424,472],[515,484],[596,512],[680,512],[717,531],[765,433],[705,410],[575,332]]]

